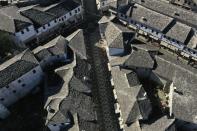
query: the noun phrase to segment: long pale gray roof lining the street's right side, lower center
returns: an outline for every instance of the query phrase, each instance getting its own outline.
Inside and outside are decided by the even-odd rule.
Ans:
[[[122,112],[124,123],[127,121],[129,114],[136,102],[136,96],[141,89],[141,86],[130,87],[125,72],[119,67],[112,67],[112,78],[114,89],[117,94],[117,100]]]

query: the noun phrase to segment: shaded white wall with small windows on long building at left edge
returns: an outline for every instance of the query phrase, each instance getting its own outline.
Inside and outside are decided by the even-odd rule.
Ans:
[[[11,82],[8,86],[0,89],[0,103],[6,107],[14,104],[40,84],[42,77],[43,71],[40,66],[30,70],[25,75]]]

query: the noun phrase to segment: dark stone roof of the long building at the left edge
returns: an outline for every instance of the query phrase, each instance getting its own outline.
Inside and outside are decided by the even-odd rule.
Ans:
[[[0,88],[7,86],[25,73],[38,66],[33,54],[26,50],[0,65]]]

